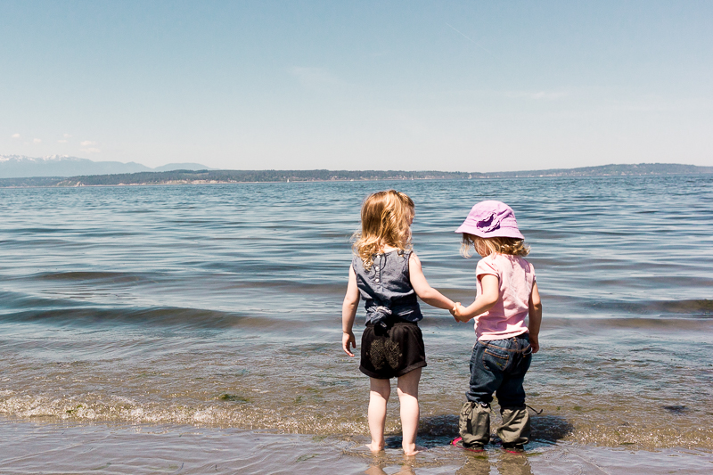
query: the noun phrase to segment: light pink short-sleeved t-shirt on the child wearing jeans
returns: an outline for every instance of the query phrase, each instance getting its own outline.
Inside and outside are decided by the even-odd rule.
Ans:
[[[478,295],[483,288],[480,275],[492,274],[500,284],[500,299],[488,312],[475,317],[478,340],[504,340],[528,331],[529,295],[535,283],[535,268],[520,256],[491,254],[480,259],[475,274]]]

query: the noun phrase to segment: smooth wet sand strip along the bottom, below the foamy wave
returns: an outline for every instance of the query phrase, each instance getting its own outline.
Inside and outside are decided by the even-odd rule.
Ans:
[[[275,430],[185,425],[76,424],[0,418],[3,473],[709,473],[713,452],[670,448],[532,443],[522,455],[488,446],[471,455],[446,444],[404,457],[397,437],[372,455],[365,437],[283,434]],[[493,471],[495,470],[495,471]]]

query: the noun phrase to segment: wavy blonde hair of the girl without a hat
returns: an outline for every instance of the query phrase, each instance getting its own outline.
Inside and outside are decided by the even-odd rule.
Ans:
[[[384,246],[411,250],[411,222],[414,201],[396,190],[375,192],[362,204],[362,228],[354,233],[352,249],[362,259],[364,268],[373,265],[373,255]]]

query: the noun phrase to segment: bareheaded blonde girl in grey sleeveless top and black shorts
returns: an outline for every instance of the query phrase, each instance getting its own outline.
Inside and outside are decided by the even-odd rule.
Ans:
[[[390,378],[397,378],[401,405],[402,446],[415,455],[418,429],[418,384],[426,365],[418,321],[423,318],[416,296],[434,307],[451,309],[454,302],[432,289],[421,262],[411,250],[414,201],[405,193],[375,192],[362,205],[361,232],[356,233],[349,267],[347,295],[341,311],[342,349],[354,356],[352,332],[359,299],[365,300],[366,327],[362,335],[359,370],[369,376],[369,431],[372,452],[384,448],[386,405]]]

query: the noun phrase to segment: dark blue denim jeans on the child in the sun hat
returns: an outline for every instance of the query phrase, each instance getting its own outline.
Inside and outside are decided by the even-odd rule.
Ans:
[[[490,404],[495,392],[501,407],[524,406],[522,381],[531,360],[528,333],[478,341],[471,356],[471,388],[465,397],[473,403]]]

